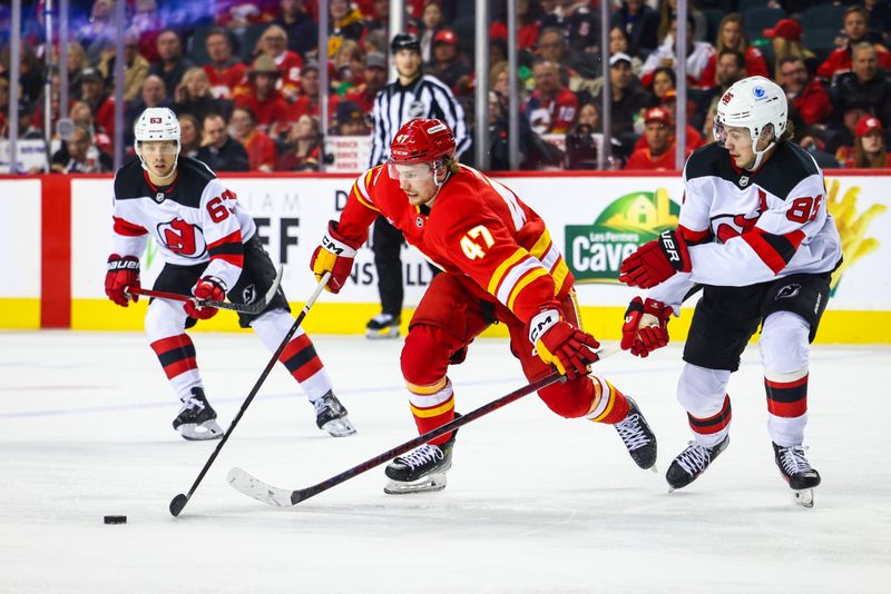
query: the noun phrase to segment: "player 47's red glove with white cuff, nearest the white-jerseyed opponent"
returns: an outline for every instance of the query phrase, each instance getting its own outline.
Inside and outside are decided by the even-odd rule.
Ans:
[[[529,324],[529,341],[538,356],[568,379],[588,373],[588,364],[597,360],[593,350],[600,346],[594,336],[560,318],[556,309],[546,309]]]

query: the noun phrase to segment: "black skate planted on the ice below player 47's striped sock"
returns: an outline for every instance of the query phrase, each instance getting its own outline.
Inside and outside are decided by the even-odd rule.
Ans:
[[[446,488],[446,471],[452,466],[454,436],[440,445],[424,444],[386,465],[390,479],[383,492],[390,495],[427,493]]]

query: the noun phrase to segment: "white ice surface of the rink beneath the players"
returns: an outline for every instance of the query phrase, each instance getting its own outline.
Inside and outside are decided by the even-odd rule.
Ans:
[[[194,336],[225,428],[268,360],[249,334]],[[242,466],[278,487],[340,473],[415,435],[401,341],[316,337],[358,434],[332,438],[276,369],[178,518],[216,442],[170,427],[178,403],[138,334],[0,334],[0,592],[890,592],[891,399],[883,347],[815,347],[804,509],[774,466],[750,348],[731,383],[731,446],[668,494],[688,439],[676,346],[599,369],[659,438],[638,469],[611,427],[527,396],[462,428],[449,486],[388,496],[375,468],[293,508],[225,484]],[[525,384],[502,340],[450,374],[458,410]],[[126,525],[102,516],[123,514]]]

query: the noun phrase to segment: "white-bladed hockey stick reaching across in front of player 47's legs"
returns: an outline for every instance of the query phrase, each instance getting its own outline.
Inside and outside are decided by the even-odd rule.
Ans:
[[[598,355],[597,360],[601,360],[606,357],[609,357],[610,355],[614,355],[619,350],[620,348],[618,344],[601,347],[599,350],[597,350]],[[358,464],[352,468],[349,468],[337,475],[332,476],[331,478],[322,481],[321,483],[312,485],[306,488],[288,491],[284,488],[274,487],[272,485],[264,483],[263,481],[260,481],[258,478],[252,476],[246,471],[243,471],[242,468],[238,467],[235,467],[229,471],[226,481],[236,491],[247,495],[248,497],[253,497],[258,502],[277,507],[291,507],[297,505],[303,501],[309,499],[310,497],[319,495],[320,493],[327,491],[331,487],[340,485],[341,483],[349,481],[350,478],[358,476],[364,473],[365,471],[370,471],[375,466],[380,466],[384,462],[389,462],[396,456],[405,454],[407,452],[414,449],[415,447],[423,445],[430,442],[431,439],[439,437],[440,435],[452,432],[458,427],[467,425],[468,423],[472,423],[473,420],[477,420],[478,418],[486,416],[493,410],[498,410],[502,406],[506,406],[515,400],[519,400],[520,398],[522,398],[528,394],[532,394],[533,392],[538,392],[541,388],[546,388],[551,384],[561,382],[564,380],[564,378],[565,376],[562,374],[560,374],[559,372],[555,372],[546,377],[542,377],[541,379],[538,379],[519,389],[516,389],[510,394],[501,396],[500,398],[495,399],[489,404],[484,404],[466,415],[456,417],[454,420],[451,420],[446,425],[429,430],[423,435],[419,435],[414,439],[410,439],[403,444],[400,444],[392,449],[388,449],[386,452],[363,462],[362,464]]]

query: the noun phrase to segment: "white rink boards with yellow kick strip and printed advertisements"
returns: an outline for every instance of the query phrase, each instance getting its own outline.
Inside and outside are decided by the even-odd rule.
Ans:
[[[891,279],[887,274],[891,237],[891,175],[844,172],[828,177],[828,202],[842,234],[841,270],[819,340],[891,341]],[[261,240],[284,266],[282,286],[300,307],[314,287],[307,263],[336,218],[354,182],[351,175],[226,176],[226,185],[257,222]],[[618,284],[618,265],[637,245],[674,227],[683,196],[679,176],[507,174],[509,186],[539,212],[577,278],[586,327],[597,336],[619,336],[621,314],[637,291]],[[14,220],[0,238],[4,274],[0,285],[0,328],[139,329],[143,303],[127,309],[105,298],[102,278],[110,253],[110,176],[1,178],[0,201]],[[143,258],[143,285],[161,267],[154,246]],[[403,249],[404,320],[432,275],[413,248]],[[693,301],[691,301],[692,304]],[[688,304],[688,305],[691,305]],[[366,245],[339,296],[323,294],[307,317],[313,333],[359,334],[378,313],[376,271]],[[689,308],[685,308],[689,309]],[[689,313],[673,323],[686,335]],[[203,323],[209,330],[237,330],[234,316]],[[495,328],[495,335],[502,334]]]

